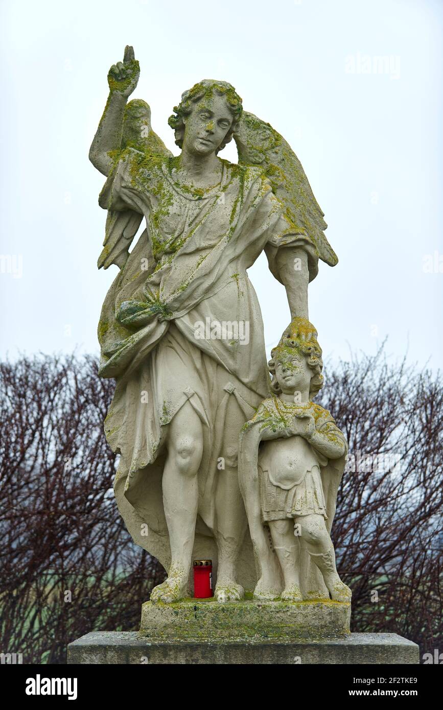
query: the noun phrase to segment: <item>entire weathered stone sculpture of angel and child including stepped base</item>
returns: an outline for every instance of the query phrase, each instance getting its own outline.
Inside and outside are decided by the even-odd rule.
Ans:
[[[337,256],[302,165],[269,124],[242,119],[219,80],[182,93],[171,155],[148,104],[126,107],[139,73],[127,46],[89,151],[107,178],[98,266],[121,270],[100,317],[99,376],[116,380],[104,428],[121,454],[119,510],[168,577],[151,590],[158,606],[143,605],[141,638],[79,640],[80,657],[287,663],[302,649],[302,662],[405,662],[409,642],[349,636],[351,589],[331,538],[347,444],[312,401],[324,378],[307,298],[319,259]],[[234,136],[239,164],[218,155]],[[247,274],[263,251],[291,314],[268,370]],[[180,601],[195,593],[195,559],[214,563],[215,601]]]

